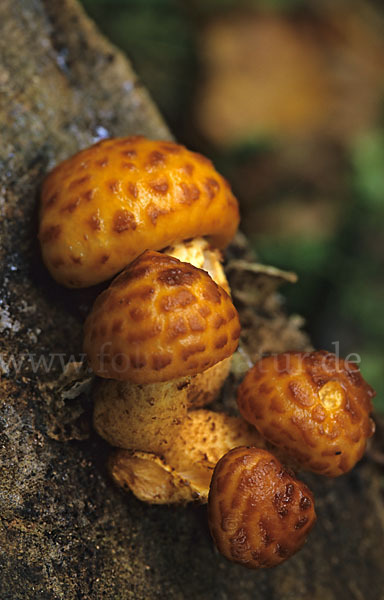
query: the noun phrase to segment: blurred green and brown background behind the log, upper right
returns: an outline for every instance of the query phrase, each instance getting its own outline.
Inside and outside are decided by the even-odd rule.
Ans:
[[[83,0],[174,136],[229,179],[287,310],[384,412],[381,0]]]

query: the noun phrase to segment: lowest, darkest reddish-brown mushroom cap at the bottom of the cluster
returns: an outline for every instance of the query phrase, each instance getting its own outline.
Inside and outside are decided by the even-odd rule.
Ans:
[[[259,569],[274,567],[297,552],[316,515],[304,483],[267,450],[242,446],[216,465],[208,520],[226,558]]]

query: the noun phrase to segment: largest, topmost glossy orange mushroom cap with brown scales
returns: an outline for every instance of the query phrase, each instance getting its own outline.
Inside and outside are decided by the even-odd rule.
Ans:
[[[147,249],[198,236],[224,248],[238,223],[237,201],[208,159],[135,136],[99,142],[48,174],[39,238],[52,276],[86,287]]]

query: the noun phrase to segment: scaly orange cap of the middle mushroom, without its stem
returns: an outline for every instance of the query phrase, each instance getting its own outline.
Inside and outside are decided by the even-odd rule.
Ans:
[[[237,311],[208,273],[147,251],[96,300],[84,351],[101,377],[155,383],[205,371],[239,335]]]

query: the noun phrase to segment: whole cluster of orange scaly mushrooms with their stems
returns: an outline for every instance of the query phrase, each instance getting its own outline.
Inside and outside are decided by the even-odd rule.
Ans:
[[[353,363],[293,351],[250,369],[241,416],[205,408],[240,336],[220,254],[238,224],[237,201],[208,159],[135,136],[99,142],[48,174],[39,239],[65,286],[117,274],[84,341],[98,376],[94,426],[116,448],[113,480],[149,503],[208,502],[220,552],[260,568],[294,554],[316,520],[292,465],[330,477],[350,470],[373,434],[374,392]]]

